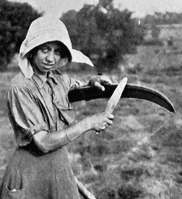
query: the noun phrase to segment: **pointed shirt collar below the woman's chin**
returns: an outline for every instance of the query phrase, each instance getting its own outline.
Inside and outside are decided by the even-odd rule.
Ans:
[[[52,71],[48,72],[47,79],[41,78],[38,74],[34,73],[32,79],[36,82],[39,88],[42,88],[46,81],[49,79],[53,80],[53,83],[58,84],[58,80],[56,79],[54,73]]]

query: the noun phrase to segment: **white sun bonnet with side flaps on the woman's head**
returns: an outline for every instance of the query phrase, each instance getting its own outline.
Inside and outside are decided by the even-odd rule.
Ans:
[[[43,16],[31,23],[26,38],[20,47],[18,64],[25,77],[31,78],[33,75],[32,66],[27,58],[28,52],[50,41],[62,42],[70,53],[68,58],[63,58],[61,60],[60,65],[63,66],[72,61],[93,66],[93,63],[87,56],[72,48],[72,43],[64,23],[58,18]]]

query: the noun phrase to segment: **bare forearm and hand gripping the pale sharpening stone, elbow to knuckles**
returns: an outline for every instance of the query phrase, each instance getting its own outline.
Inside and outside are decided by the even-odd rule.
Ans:
[[[113,119],[114,115],[111,113],[98,113],[88,116],[80,122],[70,125],[68,128],[60,131],[52,133],[40,131],[34,134],[33,139],[43,153],[48,153],[69,144],[87,131],[95,130],[96,132],[100,132],[105,130],[113,123]]]

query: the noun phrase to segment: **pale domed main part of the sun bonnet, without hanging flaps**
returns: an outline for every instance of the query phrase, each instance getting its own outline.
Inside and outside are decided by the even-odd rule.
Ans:
[[[62,42],[71,51],[72,44],[64,23],[58,18],[40,17],[31,23],[20,47],[20,53],[24,56],[33,48],[56,40]]]

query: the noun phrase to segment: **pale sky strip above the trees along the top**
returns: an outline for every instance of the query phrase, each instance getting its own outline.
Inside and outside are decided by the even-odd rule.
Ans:
[[[58,17],[68,10],[79,11],[84,4],[96,5],[99,0],[9,0],[28,2],[39,11]],[[143,17],[154,12],[182,12],[182,0],[113,0],[114,6],[120,10],[128,9],[133,16]]]

